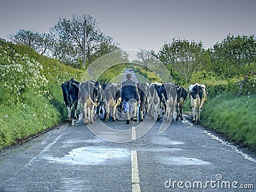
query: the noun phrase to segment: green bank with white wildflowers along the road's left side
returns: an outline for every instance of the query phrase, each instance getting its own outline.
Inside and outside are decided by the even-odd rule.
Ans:
[[[82,75],[28,46],[0,40],[0,149],[63,122],[61,83]]]

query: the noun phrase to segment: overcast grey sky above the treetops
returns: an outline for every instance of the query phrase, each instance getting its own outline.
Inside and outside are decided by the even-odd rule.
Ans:
[[[255,0],[0,0],[0,37],[49,32],[59,18],[92,16],[122,49],[159,51],[173,38],[209,48],[228,33],[256,35]]]

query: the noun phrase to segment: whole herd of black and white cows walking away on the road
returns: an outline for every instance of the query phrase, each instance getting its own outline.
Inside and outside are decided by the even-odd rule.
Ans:
[[[148,115],[154,119],[157,114],[157,120],[165,115],[164,120],[170,122],[173,120],[175,111],[176,120],[183,120],[182,111],[186,103],[187,96],[191,101],[193,109],[193,122],[200,123],[200,111],[207,99],[204,84],[191,84],[189,91],[186,88],[172,83],[136,83],[140,95],[140,104],[134,100],[132,116],[134,120],[143,121]],[[95,115],[103,113],[104,119],[109,120],[109,116],[115,122],[119,115],[122,115],[122,87],[120,83],[99,83],[95,81],[86,81],[79,83],[70,79],[61,84],[63,98],[68,109],[68,122],[77,120],[79,113],[83,116],[85,124],[93,124]],[[79,112],[80,111],[80,112]]]

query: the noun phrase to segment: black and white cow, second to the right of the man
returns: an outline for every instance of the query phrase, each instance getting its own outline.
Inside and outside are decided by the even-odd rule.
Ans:
[[[154,82],[148,86],[148,116],[154,118],[154,112],[157,112],[157,120],[161,119],[160,116],[160,104],[161,100],[159,97],[159,88],[162,83]]]

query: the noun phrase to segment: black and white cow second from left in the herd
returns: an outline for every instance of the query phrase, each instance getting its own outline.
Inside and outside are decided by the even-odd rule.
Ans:
[[[95,81],[86,81],[79,87],[79,102],[81,104],[85,124],[93,124],[95,108],[102,102],[102,86]]]

